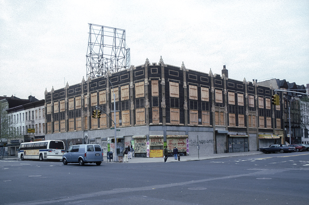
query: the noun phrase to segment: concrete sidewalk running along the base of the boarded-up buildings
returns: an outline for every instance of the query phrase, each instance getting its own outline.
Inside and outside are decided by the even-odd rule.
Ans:
[[[237,152],[237,153],[223,153],[223,154],[206,154],[206,155],[188,155],[188,156],[180,156],[180,161],[175,160],[174,156],[170,156],[167,158],[167,162],[184,162],[184,161],[196,161],[196,160],[205,160],[205,159],[217,159],[217,158],[227,158],[227,157],[239,157],[239,156],[248,156],[248,155],[258,155],[263,154],[260,151],[253,152]],[[19,160],[17,156],[3,156],[4,160]],[[0,156],[0,160],[2,160],[2,156]],[[146,163],[146,162],[164,162],[163,157],[159,158],[132,158],[128,159],[129,163]],[[112,163],[109,162],[107,157],[104,157],[103,163]],[[124,162],[121,162],[124,163]],[[125,162],[127,163],[127,162]]]

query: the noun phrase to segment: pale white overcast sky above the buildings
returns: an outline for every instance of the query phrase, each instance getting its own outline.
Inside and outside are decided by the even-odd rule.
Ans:
[[[0,0],[0,96],[86,80],[88,23],[124,29],[135,66],[309,83],[309,0]]]

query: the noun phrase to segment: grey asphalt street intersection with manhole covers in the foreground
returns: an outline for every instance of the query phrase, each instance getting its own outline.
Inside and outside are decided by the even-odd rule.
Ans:
[[[172,160],[0,159],[0,204],[308,204],[309,152]]]

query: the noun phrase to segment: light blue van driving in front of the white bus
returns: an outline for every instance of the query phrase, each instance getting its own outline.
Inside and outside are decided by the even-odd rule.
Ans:
[[[64,165],[68,163],[79,163],[83,166],[85,163],[95,162],[100,165],[103,161],[103,151],[100,145],[72,145],[62,156]]]

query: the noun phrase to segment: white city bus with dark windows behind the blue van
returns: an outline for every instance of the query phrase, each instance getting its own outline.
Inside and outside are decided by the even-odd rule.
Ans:
[[[65,152],[64,143],[60,140],[23,142],[19,146],[18,158],[21,160],[39,159],[40,161],[49,159],[62,160],[62,155]]]

